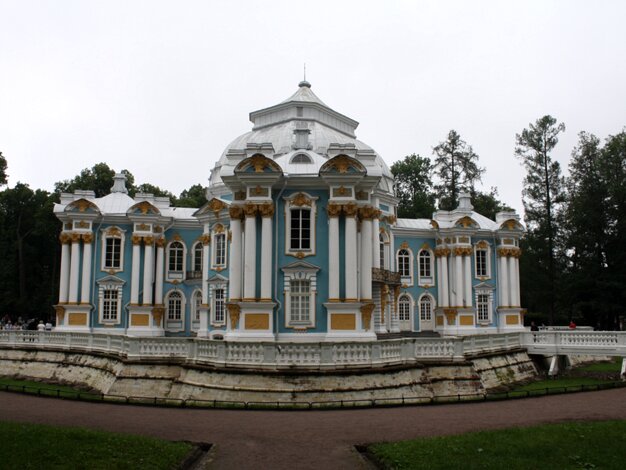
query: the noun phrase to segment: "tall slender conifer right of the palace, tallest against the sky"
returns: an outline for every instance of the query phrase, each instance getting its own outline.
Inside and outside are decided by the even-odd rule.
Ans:
[[[543,290],[543,295],[538,295],[536,299],[545,297],[551,324],[554,324],[556,313],[556,242],[560,235],[556,217],[564,194],[561,167],[552,160],[550,153],[559,141],[558,135],[564,130],[563,123],[557,124],[552,116],[544,116],[515,136],[515,155],[526,169],[522,191],[528,228],[526,248],[538,266],[543,266],[547,260],[544,270],[547,278],[533,279],[533,283]]]

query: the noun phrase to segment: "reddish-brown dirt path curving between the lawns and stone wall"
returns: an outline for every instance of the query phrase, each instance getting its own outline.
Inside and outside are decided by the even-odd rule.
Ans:
[[[0,419],[215,445],[216,469],[360,468],[353,445],[571,420],[626,419],[626,388],[524,400],[341,411],[187,410],[0,392]]]

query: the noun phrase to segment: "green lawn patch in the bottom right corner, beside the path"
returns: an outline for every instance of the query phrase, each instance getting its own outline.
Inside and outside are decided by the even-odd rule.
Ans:
[[[389,469],[619,469],[626,421],[567,423],[368,447]]]

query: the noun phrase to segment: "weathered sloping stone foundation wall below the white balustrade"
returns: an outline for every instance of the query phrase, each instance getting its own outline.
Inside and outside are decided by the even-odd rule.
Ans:
[[[192,365],[124,362],[69,352],[0,349],[0,376],[72,383],[122,396],[314,402],[477,395],[527,380],[535,367],[523,351],[461,363],[342,372],[226,371]]]

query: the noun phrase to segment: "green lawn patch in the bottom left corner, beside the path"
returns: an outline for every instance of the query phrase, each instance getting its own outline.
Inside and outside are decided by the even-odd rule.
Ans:
[[[186,442],[0,421],[0,469],[170,469],[191,451]]]

